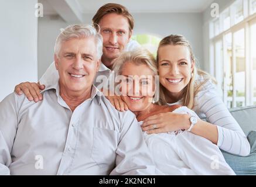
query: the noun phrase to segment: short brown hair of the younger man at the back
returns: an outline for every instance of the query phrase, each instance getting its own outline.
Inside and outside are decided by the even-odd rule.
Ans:
[[[105,4],[98,9],[98,11],[93,16],[93,25],[97,27],[98,23],[100,23],[100,20],[103,18],[103,16],[107,15],[108,13],[117,13],[118,15],[124,16],[128,19],[129,31],[131,32],[132,29],[134,29],[134,18],[132,17],[131,13],[129,13],[127,8],[120,4],[111,3]]]

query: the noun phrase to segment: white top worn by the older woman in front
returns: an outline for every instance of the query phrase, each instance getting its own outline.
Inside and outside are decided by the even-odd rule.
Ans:
[[[173,112],[197,116],[185,106]],[[235,175],[219,147],[206,138],[189,131],[183,131],[177,136],[144,132],[144,137],[156,168],[165,175]]]

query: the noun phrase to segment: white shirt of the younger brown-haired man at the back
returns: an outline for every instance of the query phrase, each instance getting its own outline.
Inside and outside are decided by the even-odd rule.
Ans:
[[[125,51],[131,51],[131,50],[137,49],[138,47],[141,47],[140,44],[135,40],[131,40],[131,41],[129,41],[127,46],[125,46],[124,50]],[[95,80],[94,80],[94,85],[99,90],[101,90],[101,88],[103,88],[103,86],[108,86],[110,84],[110,81],[109,81],[110,75],[113,75],[111,70],[108,69],[101,62],[100,69],[97,72]],[[97,78],[98,78],[98,80],[97,80]],[[40,82],[40,84],[44,84],[45,86],[51,86],[51,85],[54,85],[57,82],[58,79],[59,79],[59,74],[58,74],[58,71],[56,70],[55,64],[53,62],[49,66],[49,68],[47,68],[45,74],[43,74],[43,76],[42,76],[42,78],[40,78],[39,82]],[[106,85],[105,81],[107,81],[107,85]]]

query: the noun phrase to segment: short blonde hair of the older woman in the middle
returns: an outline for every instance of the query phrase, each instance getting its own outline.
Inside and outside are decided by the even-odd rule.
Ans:
[[[158,75],[158,67],[155,62],[155,58],[146,49],[136,49],[132,51],[123,52],[118,58],[115,59],[112,70],[115,75],[121,75],[123,67],[126,63],[133,63],[136,65],[145,64],[153,71],[155,75]]]

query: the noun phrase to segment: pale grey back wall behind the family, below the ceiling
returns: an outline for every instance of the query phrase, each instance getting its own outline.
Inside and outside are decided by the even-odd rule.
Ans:
[[[148,33],[159,37],[183,34],[192,43],[196,57],[203,63],[203,15],[202,13],[134,13],[134,34]],[[90,24],[93,14],[84,15],[84,23]],[[38,22],[38,77],[42,77],[53,61],[53,47],[61,27],[69,25],[63,19],[39,18]]]

